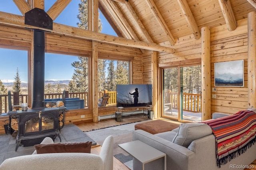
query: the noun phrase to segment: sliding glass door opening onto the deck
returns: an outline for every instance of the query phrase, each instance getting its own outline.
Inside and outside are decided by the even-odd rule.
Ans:
[[[200,65],[162,68],[162,117],[202,120]]]

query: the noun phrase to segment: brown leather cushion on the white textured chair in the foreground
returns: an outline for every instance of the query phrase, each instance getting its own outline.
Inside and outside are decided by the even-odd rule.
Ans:
[[[64,153],[64,152],[91,152],[92,141],[70,142],[70,143],[51,143],[34,145],[37,154],[42,153]]]

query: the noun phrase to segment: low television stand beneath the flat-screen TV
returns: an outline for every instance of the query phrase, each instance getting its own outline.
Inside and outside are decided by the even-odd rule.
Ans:
[[[131,116],[127,117],[135,117],[138,116],[135,112],[142,111],[143,116],[146,115],[146,117],[150,118],[149,111],[152,110],[152,106],[134,106],[134,107],[117,107],[118,112],[121,113],[121,121],[123,121],[123,118],[126,117],[125,115],[128,115],[128,113],[131,113]],[[132,113],[134,112],[134,113]]]

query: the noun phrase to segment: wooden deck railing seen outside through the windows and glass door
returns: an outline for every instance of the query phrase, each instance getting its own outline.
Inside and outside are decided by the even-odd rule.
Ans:
[[[104,96],[104,93],[109,93],[110,98],[108,99],[108,106],[116,105],[116,92],[104,92],[98,93],[99,103]],[[77,92],[77,93],[67,93],[68,98],[80,98],[84,99],[84,107],[88,107],[88,92]],[[45,99],[55,99],[62,98],[62,93],[51,93],[44,94]],[[20,94],[19,103],[28,103],[28,95]],[[165,104],[170,105],[173,109],[178,109],[178,93],[176,92],[166,92],[165,93]],[[191,112],[201,112],[201,95],[200,94],[190,94],[183,93],[183,110]],[[8,95],[0,95],[0,113],[7,113],[8,110]]]

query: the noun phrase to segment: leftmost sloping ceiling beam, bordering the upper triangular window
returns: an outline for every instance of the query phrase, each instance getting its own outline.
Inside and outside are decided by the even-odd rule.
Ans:
[[[122,29],[127,39],[134,39],[136,41],[140,41],[131,25],[126,20],[124,14],[120,11],[118,6],[112,0],[102,0],[103,4],[108,9],[109,13],[112,15],[118,26]],[[145,51],[142,50],[142,53]]]

